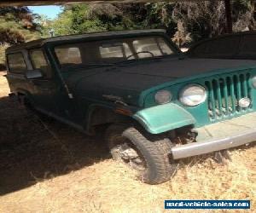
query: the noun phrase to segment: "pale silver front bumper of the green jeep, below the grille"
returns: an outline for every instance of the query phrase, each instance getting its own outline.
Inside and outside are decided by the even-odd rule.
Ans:
[[[187,158],[256,141],[256,112],[198,129],[196,142],[173,147],[172,158]]]

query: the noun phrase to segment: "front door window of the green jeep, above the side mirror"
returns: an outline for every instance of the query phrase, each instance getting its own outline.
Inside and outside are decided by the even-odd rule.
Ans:
[[[32,66],[34,69],[40,69],[42,72],[44,72],[44,76],[46,78],[51,77],[51,69],[49,67],[49,64],[47,63],[47,60],[45,59],[44,52],[42,49],[32,49],[29,52],[31,60],[32,60]]]

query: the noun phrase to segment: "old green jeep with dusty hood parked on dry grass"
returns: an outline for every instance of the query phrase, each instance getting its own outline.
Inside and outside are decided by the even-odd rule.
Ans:
[[[11,96],[93,135],[157,184],[177,159],[256,139],[256,62],[187,59],[162,30],[50,37],[6,51]]]

